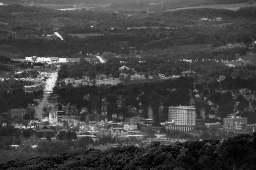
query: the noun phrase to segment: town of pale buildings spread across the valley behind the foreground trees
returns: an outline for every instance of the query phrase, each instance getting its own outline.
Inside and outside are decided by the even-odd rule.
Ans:
[[[88,93],[82,96],[82,101],[90,103],[97,100],[99,104],[95,108],[81,107],[86,104],[76,105],[76,102],[64,102],[63,96],[61,99],[60,94],[54,91],[54,88],[66,88],[68,84],[75,88],[75,83],[65,83],[58,78],[57,74],[61,64],[58,61],[65,61],[64,64],[67,64],[69,59],[56,57],[53,58],[54,61],[50,57],[49,59],[40,57],[20,59],[24,63],[32,62],[35,65],[36,61],[43,60],[44,64],[50,66],[47,66],[48,69],[45,65],[34,66],[33,70],[37,72],[35,78],[2,78],[2,82],[10,81],[10,79],[32,82],[31,85],[23,86],[26,94],[43,91],[43,95],[33,98],[32,103],[27,103],[27,108],[8,108],[8,112],[1,113],[2,129],[11,126],[12,132],[9,133],[13,134],[12,138],[19,139],[10,143],[11,147],[29,145],[35,149],[38,147],[38,142],[44,140],[85,140],[89,141],[86,148],[106,150],[111,147],[128,145],[143,147],[156,141],[161,144],[174,144],[177,141],[187,140],[215,139],[223,141],[240,133],[254,132],[255,118],[248,120],[250,116],[245,114],[244,117],[244,114],[241,113],[244,110],[255,110],[256,91],[247,88],[240,88],[239,91],[218,88],[211,92],[210,85],[205,88],[196,81],[193,82],[192,89],[188,89],[188,105],[177,103],[177,106],[166,107],[162,102],[159,106],[145,102],[145,91],[141,89],[134,98],[136,101],[131,102],[130,105],[127,105],[128,99],[122,94],[107,94],[95,99],[96,96],[93,96],[89,89]],[[74,61],[70,60],[69,62],[73,63]],[[125,64],[124,62],[119,63]],[[124,71],[133,71],[139,74],[136,67],[134,70],[125,65],[119,67],[118,71],[120,75],[124,74]],[[15,74],[24,72],[26,73],[26,70],[18,71]],[[125,75],[127,77],[127,74]],[[195,76],[198,74],[190,70],[168,77],[157,77],[162,78],[163,81],[176,81]],[[152,78],[156,79],[156,77]],[[214,80],[216,88],[218,87],[216,84],[221,84],[225,79],[226,76],[219,75]],[[91,85],[89,84],[88,87]],[[104,84],[97,86],[100,88],[102,85]],[[79,87],[81,86],[79,85]],[[171,94],[177,92],[177,88],[167,88],[166,90]],[[152,91],[150,95],[156,95],[152,93],[154,92]],[[228,100],[222,102],[233,103],[233,105],[230,105],[231,109],[225,110],[223,103],[217,104],[218,100]],[[223,112],[222,110],[226,111],[223,115],[220,114]],[[21,136],[25,140],[20,140]]]

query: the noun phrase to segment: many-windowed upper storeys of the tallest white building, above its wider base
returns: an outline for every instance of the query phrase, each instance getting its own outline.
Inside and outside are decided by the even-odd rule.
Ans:
[[[169,107],[169,122],[176,125],[195,126],[196,113],[192,106]]]

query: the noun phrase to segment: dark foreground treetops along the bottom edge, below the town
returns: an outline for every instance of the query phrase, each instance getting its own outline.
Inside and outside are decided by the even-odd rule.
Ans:
[[[148,147],[113,148],[106,151],[86,150],[41,156],[27,161],[9,161],[1,169],[161,169],[161,170],[233,170],[256,168],[256,134],[242,134],[219,141],[189,141],[174,145],[152,143]]]

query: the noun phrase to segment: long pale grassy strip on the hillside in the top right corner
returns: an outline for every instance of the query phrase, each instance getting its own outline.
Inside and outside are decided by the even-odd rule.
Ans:
[[[215,8],[215,9],[229,9],[233,11],[237,11],[239,8],[247,7],[247,6],[256,6],[256,3],[246,4],[246,3],[234,3],[234,4],[215,4],[215,5],[204,5],[204,6],[192,6],[186,8],[176,8],[167,11],[177,11],[180,9],[194,9],[194,8]]]

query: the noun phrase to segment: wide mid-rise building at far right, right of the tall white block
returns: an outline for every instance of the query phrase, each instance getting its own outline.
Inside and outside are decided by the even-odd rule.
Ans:
[[[240,116],[232,116],[223,119],[224,129],[235,129],[242,125],[247,125],[247,118]],[[239,125],[238,125],[239,124]]]

